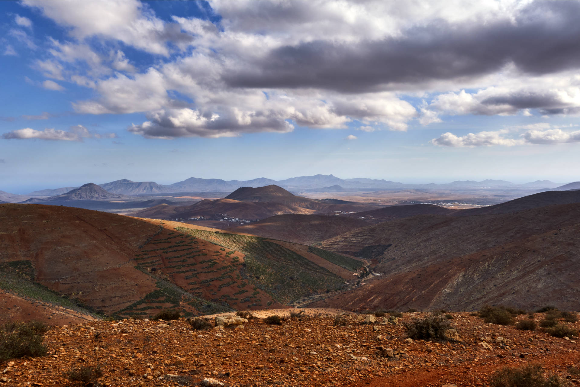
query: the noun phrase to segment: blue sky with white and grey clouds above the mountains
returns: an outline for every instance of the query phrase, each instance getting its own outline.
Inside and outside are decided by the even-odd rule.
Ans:
[[[580,180],[580,2],[0,2],[0,190]]]

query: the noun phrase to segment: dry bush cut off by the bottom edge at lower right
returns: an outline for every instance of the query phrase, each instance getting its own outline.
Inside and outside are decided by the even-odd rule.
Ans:
[[[503,367],[490,378],[490,386],[563,386],[557,375],[543,375],[540,364],[528,364],[518,368]]]

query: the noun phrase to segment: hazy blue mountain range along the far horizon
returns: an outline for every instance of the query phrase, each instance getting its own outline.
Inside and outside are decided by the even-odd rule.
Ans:
[[[146,195],[176,192],[233,192],[240,187],[263,187],[277,185],[284,189],[303,192],[339,192],[351,190],[400,190],[400,189],[523,189],[523,190],[566,190],[579,189],[580,182],[570,183],[561,186],[560,183],[549,180],[536,180],[525,184],[514,184],[506,180],[457,180],[444,184],[404,184],[392,182],[391,180],[378,180],[367,178],[340,179],[333,175],[297,176],[285,180],[273,180],[258,178],[252,180],[222,180],[222,179],[201,179],[189,178],[170,185],[161,185],[155,182],[133,182],[128,179],[115,180],[114,182],[99,185],[110,193],[122,195]],[[565,188],[570,186],[570,188]],[[78,187],[63,187],[57,189],[45,189],[34,191],[29,195],[13,195],[0,191],[0,200],[22,201],[26,198],[58,196],[67,193]],[[8,198],[9,195],[16,196],[20,200]],[[24,197],[24,198],[23,198]],[[8,199],[8,200],[7,200]]]

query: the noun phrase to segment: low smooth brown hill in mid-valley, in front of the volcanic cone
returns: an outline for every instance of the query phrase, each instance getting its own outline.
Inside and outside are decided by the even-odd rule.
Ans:
[[[347,216],[287,214],[234,227],[229,232],[249,233],[310,245],[364,226],[368,226],[364,220]]]

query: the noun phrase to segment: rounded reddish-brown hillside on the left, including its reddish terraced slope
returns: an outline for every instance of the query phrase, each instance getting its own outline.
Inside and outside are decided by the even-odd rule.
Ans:
[[[26,266],[26,261],[34,281],[106,314],[247,309],[252,299],[278,305],[226,273],[242,267],[243,254],[226,254],[204,240],[106,212],[0,205],[0,263]],[[254,295],[241,302],[231,296],[240,291]],[[222,306],[223,295],[229,306]]]

